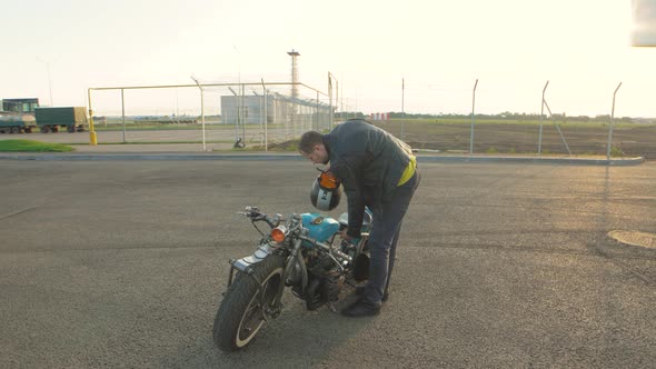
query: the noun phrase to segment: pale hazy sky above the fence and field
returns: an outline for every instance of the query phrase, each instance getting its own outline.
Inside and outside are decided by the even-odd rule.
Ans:
[[[554,113],[594,117],[610,114],[622,82],[615,116],[656,117],[656,48],[629,46],[630,0],[21,0],[1,9],[0,99],[87,107],[89,88],[190,84],[190,76],[287,82],[294,49],[300,82],[327,92],[330,73],[345,110],[468,114],[475,93],[477,113],[538,113],[549,81]],[[95,111],[120,114],[117,93],[93,92]],[[126,94],[129,113],[181,104],[199,113],[193,89]]]

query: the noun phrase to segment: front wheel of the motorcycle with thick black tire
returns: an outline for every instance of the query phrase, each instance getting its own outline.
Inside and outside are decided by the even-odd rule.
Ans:
[[[227,352],[245,348],[264,326],[262,309],[274,301],[284,282],[285,258],[269,255],[252,269],[252,276],[239,273],[235,277],[215,318],[213,341]]]

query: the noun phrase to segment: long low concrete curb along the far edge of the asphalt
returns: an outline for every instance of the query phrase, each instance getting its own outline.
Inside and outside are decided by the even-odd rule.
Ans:
[[[109,160],[284,160],[305,161],[299,154],[270,153],[14,153],[1,154],[0,160],[42,160],[42,161],[109,161]],[[637,166],[645,162],[644,157],[622,159],[595,158],[545,158],[545,157],[478,157],[478,156],[417,156],[418,162],[510,162],[510,163],[549,163],[571,166]]]

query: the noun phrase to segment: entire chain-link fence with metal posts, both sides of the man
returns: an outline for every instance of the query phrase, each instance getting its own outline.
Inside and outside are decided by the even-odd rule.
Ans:
[[[334,88],[338,90],[336,86]],[[476,88],[477,83],[459,90],[405,83],[404,91],[399,91],[402,93],[401,111],[372,114],[376,118],[372,122],[416,149],[440,152],[656,158],[653,143],[656,141],[656,124],[653,121],[614,117],[614,112],[599,117],[570,117],[566,112],[551,111],[558,103],[549,106],[548,93],[547,98],[543,94],[540,113],[480,114],[477,112],[479,106],[490,109],[487,100],[494,91],[485,87],[481,90],[478,86],[478,92],[483,93],[477,97]],[[546,90],[547,86],[544,88]],[[122,131],[122,134],[113,136],[118,141],[202,142],[203,150],[269,149],[297,139],[307,130],[325,132],[339,121],[365,117],[357,108],[345,106],[347,99],[344,97],[331,97],[330,90],[330,86],[329,92],[325,93],[304,83],[290,82],[198,82],[92,88],[89,101],[96,129]],[[540,107],[539,93],[530,101],[534,99],[536,107]],[[464,112],[469,109],[467,104],[469,114]],[[455,107],[460,113],[448,113]],[[608,104],[609,112],[613,107]],[[294,148],[290,146],[289,149]]]

